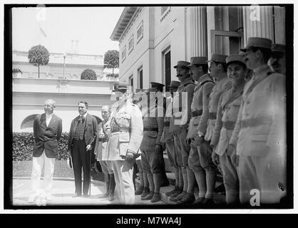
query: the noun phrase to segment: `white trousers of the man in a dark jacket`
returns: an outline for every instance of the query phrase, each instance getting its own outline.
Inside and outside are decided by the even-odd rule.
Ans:
[[[43,153],[40,157],[33,157],[32,174],[31,174],[31,187],[32,193],[40,193],[41,183],[41,171],[44,164],[44,185],[46,193],[51,193],[53,187],[53,171],[55,166],[55,158],[46,157],[46,153]]]

